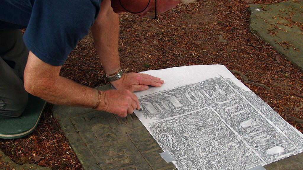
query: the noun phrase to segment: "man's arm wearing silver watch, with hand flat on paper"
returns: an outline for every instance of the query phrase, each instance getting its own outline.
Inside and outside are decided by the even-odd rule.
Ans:
[[[114,13],[110,0],[103,0],[100,13],[91,27],[102,66],[107,75],[113,74],[120,68],[118,53],[119,15]],[[148,85],[160,87],[164,81],[147,74],[123,74],[122,78],[111,82],[117,89],[130,91],[146,90]]]

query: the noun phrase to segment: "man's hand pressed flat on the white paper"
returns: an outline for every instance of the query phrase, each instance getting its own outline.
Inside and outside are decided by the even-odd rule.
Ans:
[[[148,86],[160,87],[164,83],[158,77],[141,73],[123,74],[119,80],[112,81],[116,89],[127,89],[131,92],[147,90]]]

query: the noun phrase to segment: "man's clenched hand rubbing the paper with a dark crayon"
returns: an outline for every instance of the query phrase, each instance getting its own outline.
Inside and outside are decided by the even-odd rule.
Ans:
[[[106,90],[101,91],[101,94],[102,102],[97,110],[126,117],[127,114],[132,114],[135,109],[140,109],[138,97],[129,90]]]

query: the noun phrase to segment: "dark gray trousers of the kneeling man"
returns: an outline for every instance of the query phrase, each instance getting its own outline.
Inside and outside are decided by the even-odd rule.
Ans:
[[[21,30],[0,29],[0,118],[18,117],[27,105],[23,72],[28,53]]]

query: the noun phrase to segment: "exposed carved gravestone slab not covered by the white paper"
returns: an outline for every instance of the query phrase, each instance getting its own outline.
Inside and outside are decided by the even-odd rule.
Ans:
[[[105,85],[98,87],[108,90]],[[137,116],[126,118],[77,107],[53,107],[54,116],[85,170],[176,170]],[[303,153],[273,162],[267,170],[303,169]]]

